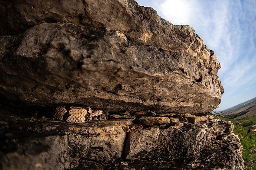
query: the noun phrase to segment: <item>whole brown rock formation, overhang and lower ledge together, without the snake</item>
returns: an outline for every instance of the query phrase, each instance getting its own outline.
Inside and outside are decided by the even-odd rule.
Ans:
[[[134,0],[0,1],[0,25],[0,169],[243,168],[192,27]],[[66,104],[109,119],[51,118]]]

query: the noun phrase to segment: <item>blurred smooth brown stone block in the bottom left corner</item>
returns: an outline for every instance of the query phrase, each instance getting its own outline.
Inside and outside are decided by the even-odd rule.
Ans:
[[[67,135],[1,136],[0,166],[3,169],[65,169],[70,167]],[[27,134],[26,134],[27,135]],[[3,141],[5,139],[5,141]]]

